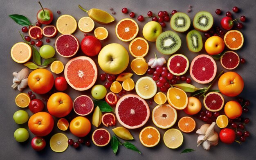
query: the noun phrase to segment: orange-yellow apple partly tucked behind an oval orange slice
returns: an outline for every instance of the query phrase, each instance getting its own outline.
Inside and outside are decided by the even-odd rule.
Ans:
[[[189,97],[189,102],[186,108],[183,110],[186,114],[194,115],[197,114],[202,108],[200,100],[196,97]]]

